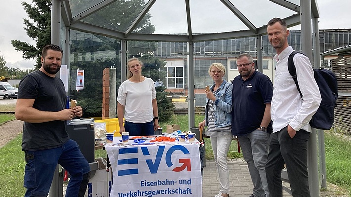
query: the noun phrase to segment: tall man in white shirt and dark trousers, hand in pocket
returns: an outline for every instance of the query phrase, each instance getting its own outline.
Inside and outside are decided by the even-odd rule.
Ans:
[[[273,133],[270,136],[266,163],[266,177],[270,197],[282,197],[281,170],[286,164],[293,197],[310,197],[307,171],[307,142],[311,133],[309,121],[317,111],[321,96],[314,79],[308,57],[294,56],[296,75],[303,98],[288,71],[288,57],[294,50],[288,44],[286,22],[273,18],[267,26],[268,39],[276,49],[277,61],[271,119]]]

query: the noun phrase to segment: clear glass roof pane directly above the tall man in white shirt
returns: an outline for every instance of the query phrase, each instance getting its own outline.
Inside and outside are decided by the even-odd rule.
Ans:
[[[229,1],[257,28],[267,25],[274,17],[286,18],[297,13],[268,0]]]

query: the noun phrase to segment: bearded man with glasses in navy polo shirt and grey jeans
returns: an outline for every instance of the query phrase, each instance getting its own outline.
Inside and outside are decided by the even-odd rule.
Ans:
[[[255,70],[251,55],[239,55],[236,64],[240,75],[232,82],[232,134],[238,137],[254,185],[250,197],[269,197],[265,164],[269,139],[267,128],[272,131],[273,84],[266,75]]]

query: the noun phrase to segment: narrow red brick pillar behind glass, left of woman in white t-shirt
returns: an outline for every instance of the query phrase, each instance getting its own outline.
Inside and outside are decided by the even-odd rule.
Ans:
[[[110,68],[105,68],[102,74],[102,119],[109,118],[110,99]]]

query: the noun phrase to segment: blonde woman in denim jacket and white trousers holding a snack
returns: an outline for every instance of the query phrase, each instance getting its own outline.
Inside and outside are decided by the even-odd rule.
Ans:
[[[199,128],[207,126],[205,132],[210,136],[216,162],[221,190],[215,197],[229,197],[229,169],[227,153],[232,141],[232,84],[223,80],[226,68],[221,63],[213,63],[208,69],[214,84],[206,93],[205,120]]]

